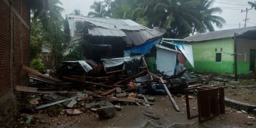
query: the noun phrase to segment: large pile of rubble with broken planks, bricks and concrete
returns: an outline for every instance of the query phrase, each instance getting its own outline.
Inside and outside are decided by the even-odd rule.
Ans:
[[[59,79],[23,65],[30,82],[28,86],[15,87],[25,94],[24,101],[20,101],[20,120],[29,124],[33,113],[48,113],[53,117],[86,113],[111,119],[116,110],[130,104],[154,105],[155,98],[145,95],[168,95],[175,110],[180,111],[171,93],[203,85],[202,79],[192,79],[181,65],[176,75],[170,77],[149,72],[143,60],[131,59],[113,67],[106,67],[104,61],[102,65],[90,61],[64,62],[58,71]]]

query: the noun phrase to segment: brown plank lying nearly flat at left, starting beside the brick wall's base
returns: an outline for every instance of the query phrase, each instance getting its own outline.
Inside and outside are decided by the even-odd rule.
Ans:
[[[16,91],[25,91],[25,92],[34,92],[34,93],[56,93],[57,92],[57,91],[40,91],[38,90],[38,88],[20,86],[20,85],[16,85],[14,89]]]

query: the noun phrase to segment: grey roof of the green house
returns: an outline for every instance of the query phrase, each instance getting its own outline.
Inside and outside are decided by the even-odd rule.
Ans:
[[[201,33],[201,34],[192,35],[190,37],[186,37],[184,39],[191,40],[191,41],[204,41],[204,40],[234,37],[234,33],[238,33],[238,35],[243,35],[244,33],[248,32],[248,31],[256,31],[256,26],[213,31],[213,32],[209,32],[209,33]]]

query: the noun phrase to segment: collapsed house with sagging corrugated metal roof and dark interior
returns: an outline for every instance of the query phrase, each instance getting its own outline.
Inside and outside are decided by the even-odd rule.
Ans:
[[[86,42],[83,55],[94,61],[123,57],[124,49],[142,45],[165,34],[164,29],[150,29],[130,19],[66,15],[66,23],[65,31],[71,36],[68,53]]]

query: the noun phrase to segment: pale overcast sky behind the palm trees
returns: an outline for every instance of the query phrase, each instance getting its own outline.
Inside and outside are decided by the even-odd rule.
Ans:
[[[65,14],[70,14],[74,9],[80,9],[81,13],[87,16],[90,9],[90,6],[94,1],[103,1],[103,0],[60,0],[63,3],[63,8],[65,9],[63,17]],[[241,9],[245,10],[246,8],[251,9],[248,1],[254,2],[255,0],[215,0],[215,3],[212,7],[219,7],[223,10],[221,14],[215,14],[221,16],[226,20],[226,24],[222,28],[216,28],[216,30],[232,29],[239,28],[239,23],[241,27],[244,27],[246,12],[241,13]],[[247,13],[247,27],[256,26],[256,10],[251,9]]]

